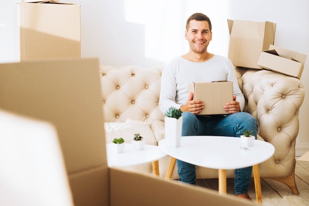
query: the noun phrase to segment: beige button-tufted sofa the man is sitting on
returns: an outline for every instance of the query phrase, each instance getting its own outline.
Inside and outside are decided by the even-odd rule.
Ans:
[[[164,114],[159,110],[160,76],[163,67],[100,66],[106,139],[123,137],[130,142],[139,132],[148,144],[164,138]],[[298,112],[305,90],[297,78],[258,69],[235,68],[246,106],[259,125],[259,139],[275,147],[274,155],[260,164],[263,178],[278,180],[299,194],[294,178],[295,142],[299,130]],[[159,160],[164,176],[170,157]],[[131,168],[133,169],[133,168]],[[134,168],[152,172],[151,164]],[[197,178],[217,178],[218,171],[196,167]],[[233,177],[233,171],[227,172]],[[177,166],[172,178],[178,178]]]

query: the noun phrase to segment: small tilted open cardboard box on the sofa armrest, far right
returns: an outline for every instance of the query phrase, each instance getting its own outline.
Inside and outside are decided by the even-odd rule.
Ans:
[[[301,78],[307,55],[270,45],[261,53],[258,65],[270,71]]]

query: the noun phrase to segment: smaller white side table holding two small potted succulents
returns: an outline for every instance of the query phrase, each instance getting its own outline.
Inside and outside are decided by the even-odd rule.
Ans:
[[[143,150],[134,150],[131,143],[124,143],[124,151],[114,153],[111,143],[106,144],[107,162],[109,167],[126,167],[152,162],[154,175],[159,175],[158,159],[165,157],[158,146],[146,144]]]

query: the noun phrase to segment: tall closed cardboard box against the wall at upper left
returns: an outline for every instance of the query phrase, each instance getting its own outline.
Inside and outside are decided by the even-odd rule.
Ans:
[[[18,3],[20,60],[80,58],[80,5]]]

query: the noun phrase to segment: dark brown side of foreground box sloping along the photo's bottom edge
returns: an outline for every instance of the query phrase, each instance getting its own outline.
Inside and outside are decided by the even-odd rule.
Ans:
[[[221,195],[217,191],[144,173],[121,168],[110,168],[109,173],[110,206],[256,206],[252,201],[231,194]]]

